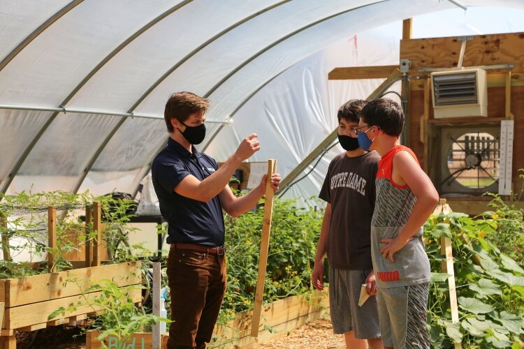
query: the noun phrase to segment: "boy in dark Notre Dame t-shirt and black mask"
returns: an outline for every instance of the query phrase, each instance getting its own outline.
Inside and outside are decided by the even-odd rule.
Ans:
[[[338,110],[338,139],[346,151],[331,161],[319,197],[328,202],[316,249],[313,287],[323,289],[323,260],[329,260],[329,302],[335,334],[347,348],[381,349],[376,297],[358,306],[361,285],[374,295],[370,226],[374,209],[374,177],[379,155],[358,147],[358,112],[365,101],[352,100]]]

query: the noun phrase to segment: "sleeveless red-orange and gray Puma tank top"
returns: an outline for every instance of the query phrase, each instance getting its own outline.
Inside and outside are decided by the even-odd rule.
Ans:
[[[375,179],[377,198],[371,221],[371,251],[374,273],[380,288],[430,281],[430,263],[421,239],[422,227],[415,233],[414,239],[393,255],[395,262],[384,259],[380,253],[381,246],[384,246],[380,239],[395,238],[402,231],[416,203],[416,196],[411,189],[395,184],[391,177],[393,158],[399,151],[407,151],[416,160],[411,149],[397,145],[381,157]]]

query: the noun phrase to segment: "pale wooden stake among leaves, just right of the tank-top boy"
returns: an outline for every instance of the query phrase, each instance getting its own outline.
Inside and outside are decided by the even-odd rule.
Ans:
[[[442,211],[443,214],[451,213],[451,208],[446,204],[446,199],[440,199],[439,205],[435,211]],[[449,305],[451,308],[451,322],[458,322],[458,304],[457,291],[455,286],[455,270],[453,269],[453,248],[451,247],[451,239],[449,237],[440,238],[440,253],[446,257],[442,261],[440,270],[443,273],[450,274],[448,278],[449,286]],[[455,348],[462,348],[462,343],[454,343]]]

